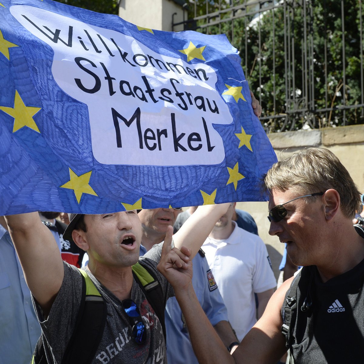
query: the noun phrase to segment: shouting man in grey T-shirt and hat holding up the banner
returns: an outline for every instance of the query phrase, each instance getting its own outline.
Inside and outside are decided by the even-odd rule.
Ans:
[[[185,253],[195,256],[207,236],[205,232],[212,229],[219,215],[221,206],[203,206],[174,236],[174,245],[181,248],[181,252],[177,249],[177,253],[169,253],[176,266],[187,268],[190,263]],[[62,261],[55,240],[38,213],[10,215],[5,219],[33,296],[47,363],[61,363],[82,304],[82,276],[75,266]],[[169,242],[172,232],[170,227],[166,235]],[[89,262],[85,271],[107,307],[106,324],[90,363],[166,363],[161,323],[136,284],[131,266],[139,261],[149,268],[157,277],[165,300],[174,293],[156,269],[161,245],[139,258],[141,237],[136,210],[70,215],[64,238],[72,239],[87,251]],[[132,305],[140,320],[138,330],[133,330],[137,321],[128,314]]]

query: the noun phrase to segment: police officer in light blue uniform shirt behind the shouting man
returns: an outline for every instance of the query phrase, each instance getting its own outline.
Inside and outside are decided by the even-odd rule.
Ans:
[[[164,240],[167,227],[174,225],[181,211],[182,209],[159,208],[144,209],[139,212],[143,228],[141,255]],[[198,301],[226,348],[233,351],[238,345],[238,340],[228,321],[225,304],[203,250],[199,250],[199,254],[193,258],[192,264],[194,272],[192,284]],[[167,301],[165,322],[168,363],[197,364],[198,361],[190,343],[186,322],[175,297],[170,297]]]

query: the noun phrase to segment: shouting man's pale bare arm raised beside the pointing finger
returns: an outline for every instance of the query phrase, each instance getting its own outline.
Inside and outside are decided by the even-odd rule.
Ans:
[[[186,246],[192,259],[205,242],[218,219],[225,214],[230,203],[199,206],[173,236],[174,246]]]

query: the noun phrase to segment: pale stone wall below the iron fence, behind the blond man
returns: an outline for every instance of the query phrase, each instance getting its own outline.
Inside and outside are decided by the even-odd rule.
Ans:
[[[323,128],[309,131],[287,131],[268,134],[278,160],[304,147],[323,147],[331,150],[351,174],[359,190],[364,193],[364,125]],[[267,245],[276,277],[284,245],[268,234],[268,202],[238,202],[237,208],[254,217],[258,233]]]

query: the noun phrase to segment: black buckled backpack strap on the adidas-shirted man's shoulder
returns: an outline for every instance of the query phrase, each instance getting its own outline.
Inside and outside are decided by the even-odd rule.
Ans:
[[[304,268],[302,268],[304,269]],[[292,338],[292,332],[294,323],[296,322],[297,317],[297,286],[298,282],[301,278],[301,273],[298,272],[296,277],[294,277],[294,280],[292,281],[286,296],[285,301],[283,303],[282,307],[282,318],[283,318],[283,325],[281,328],[282,334],[286,337],[286,348],[290,347],[290,341]]]

